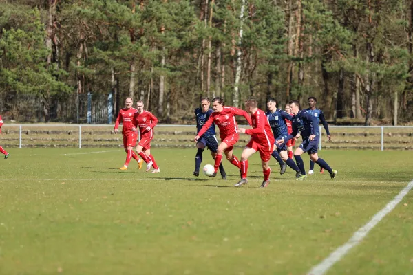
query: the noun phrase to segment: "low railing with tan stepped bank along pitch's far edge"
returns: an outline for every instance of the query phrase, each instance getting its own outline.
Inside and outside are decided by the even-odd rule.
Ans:
[[[247,126],[244,126],[247,127]],[[0,144],[9,148],[123,146],[113,124],[4,124]],[[319,126],[319,149],[413,150],[413,126],[329,126],[332,142]],[[121,126],[120,126],[121,129]],[[120,130],[119,129],[119,130]],[[191,147],[195,125],[159,124],[155,146]],[[247,139],[241,135],[242,139]],[[244,144],[239,142],[240,146]],[[297,141],[297,143],[299,140]]]

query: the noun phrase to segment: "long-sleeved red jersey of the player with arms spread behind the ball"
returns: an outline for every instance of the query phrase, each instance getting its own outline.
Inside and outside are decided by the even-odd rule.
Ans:
[[[204,126],[202,126],[198,136],[202,136],[209,129],[209,126],[211,126],[212,123],[215,123],[220,129],[220,136],[238,133],[238,125],[235,121],[235,115],[243,115],[248,121],[248,124],[251,125],[251,116],[248,115],[246,111],[235,107],[224,107],[222,112],[213,112],[209,115],[209,119],[205,122]]]

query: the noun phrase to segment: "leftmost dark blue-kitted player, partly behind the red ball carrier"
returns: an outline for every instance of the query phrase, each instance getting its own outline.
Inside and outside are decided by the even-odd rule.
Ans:
[[[195,109],[197,133],[199,133],[202,126],[204,126],[205,122],[209,119],[209,116],[213,112],[211,109],[209,109],[210,104],[211,103],[209,102],[209,98],[204,97],[201,99],[201,108]],[[215,155],[217,155],[218,150],[218,140],[215,137],[215,124],[211,124],[209,129],[201,136],[201,139],[198,140],[196,144],[196,148],[198,150],[195,155],[195,170],[193,171],[193,175],[195,177],[198,177],[200,175],[202,152],[204,152],[205,147],[209,148],[213,159],[215,159]],[[220,164],[220,173],[222,179],[226,179],[226,173],[222,164]]]

